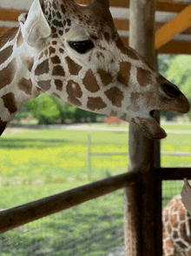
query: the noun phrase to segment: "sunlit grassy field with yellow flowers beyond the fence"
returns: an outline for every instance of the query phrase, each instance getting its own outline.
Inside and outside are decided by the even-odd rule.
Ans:
[[[191,134],[183,133],[190,131],[191,125],[162,126],[182,131],[182,134],[169,133],[168,138],[161,141],[162,151],[191,151]],[[127,132],[47,129],[0,138],[0,208],[88,183],[88,132],[92,152],[128,152]],[[95,181],[126,172],[128,158],[94,156],[91,165],[92,181]],[[190,166],[191,157],[162,156],[161,165]],[[165,181],[162,185],[164,207],[169,199],[181,192],[182,183]],[[121,190],[0,235],[0,254],[109,255],[112,247],[123,243],[122,215]]]

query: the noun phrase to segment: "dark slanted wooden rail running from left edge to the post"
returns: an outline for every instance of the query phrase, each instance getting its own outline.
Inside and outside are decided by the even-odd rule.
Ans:
[[[0,211],[0,233],[30,221],[41,219],[50,214],[80,205],[90,199],[101,197],[109,192],[135,185],[142,179],[139,170],[128,172],[109,179],[102,179],[89,185],[82,185],[67,192],[39,199],[25,205],[19,205]]]

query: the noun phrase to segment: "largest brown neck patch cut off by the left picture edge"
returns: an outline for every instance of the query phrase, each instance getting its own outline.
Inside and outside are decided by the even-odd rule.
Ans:
[[[15,69],[16,59],[14,58],[10,64],[8,64],[2,71],[0,71],[0,89],[2,89],[7,84],[10,84],[15,77],[16,69]]]

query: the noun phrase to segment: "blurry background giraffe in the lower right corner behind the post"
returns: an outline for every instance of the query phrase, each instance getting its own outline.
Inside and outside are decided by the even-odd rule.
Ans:
[[[171,199],[162,211],[163,256],[191,256],[191,217],[181,195]]]

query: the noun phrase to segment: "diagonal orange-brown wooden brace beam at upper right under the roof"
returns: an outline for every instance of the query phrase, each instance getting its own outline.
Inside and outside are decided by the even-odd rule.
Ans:
[[[191,4],[182,10],[175,18],[164,24],[155,32],[155,49],[167,44],[173,37],[181,34],[191,26]]]

